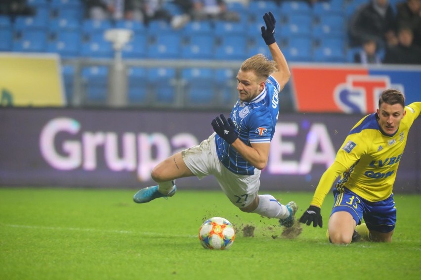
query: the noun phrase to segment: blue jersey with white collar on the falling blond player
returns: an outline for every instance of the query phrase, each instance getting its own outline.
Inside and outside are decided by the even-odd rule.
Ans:
[[[269,76],[263,91],[251,102],[238,100],[234,105],[230,117],[239,139],[246,145],[272,140],[279,114],[279,90],[278,82]],[[228,170],[240,175],[254,174],[254,166],[225,140],[215,135],[215,143],[218,158]]]

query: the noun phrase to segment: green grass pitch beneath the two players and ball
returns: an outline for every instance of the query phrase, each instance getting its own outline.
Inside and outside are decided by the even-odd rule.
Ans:
[[[243,213],[221,191],[179,188],[168,200],[135,204],[134,190],[0,188],[0,279],[421,279],[421,195],[395,195],[398,221],[391,244],[332,245],[324,227],[303,225],[295,239],[277,220]],[[261,193],[265,193],[262,191]],[[312,193],[270,192],[308,206]],[[229,250],[204,249],[202,222],[234,224]],[[254,236],[242,229],[254,226]]]

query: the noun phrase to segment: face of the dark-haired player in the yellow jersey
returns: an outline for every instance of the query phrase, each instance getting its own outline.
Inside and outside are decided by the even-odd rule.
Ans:
[[[394,134],[398,130],[405,113],[404,107],[400,104],[382,103],[377,109],[380,128],[387,134]]]

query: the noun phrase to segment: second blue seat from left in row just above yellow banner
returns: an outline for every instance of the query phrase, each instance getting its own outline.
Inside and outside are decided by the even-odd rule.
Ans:
[[[12,51],[44,52],[47,45],[47,35],[39,30],[22,31],[20,37],[12,43]]]

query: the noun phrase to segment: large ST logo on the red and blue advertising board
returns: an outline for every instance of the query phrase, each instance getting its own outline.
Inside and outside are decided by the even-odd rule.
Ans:
[[[348,75],[334,90],[337,106],[345,113],[373,113],[383,90],[395,88],[404,93],[402,84],[391,84],[389,76]]]

